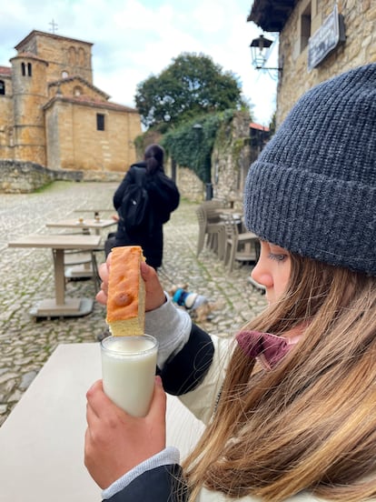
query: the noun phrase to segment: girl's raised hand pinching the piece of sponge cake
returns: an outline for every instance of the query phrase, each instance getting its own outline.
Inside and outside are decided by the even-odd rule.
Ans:
[[[101,291],[95,296],[96,300],[105,305],[107,303],[107,291],[108,291],[108,276],[111,267],[111,253],[107,256],[106,263],[99,266],[99,276],[102,279]],[[163,292],[163,287],[159,282],[157,273],[152,266],[146,265],[146,263],[141,263],[141,275],[145,281],[145,310],[154,310],[158,306],[163,305],[165,302],[165,296]]]

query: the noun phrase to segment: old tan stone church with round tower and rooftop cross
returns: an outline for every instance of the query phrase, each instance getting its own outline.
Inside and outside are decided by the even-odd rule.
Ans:
[[[35,30],[15,45],[0,65],[0,160],[104,179],[136,161],[140,115],[95,87],[92,46]]]

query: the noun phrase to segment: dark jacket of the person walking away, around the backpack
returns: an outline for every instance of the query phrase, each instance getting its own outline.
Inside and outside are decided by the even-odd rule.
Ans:
[[[127,232],[122,221],[119,221],[114,246],[138,245],[143,248],[146,263],[154,268],[162,265],[163,258],[163,223],[170,219],[170,214],[179,206],[180,194],[173,180],[162,171],[153,175],[146,173],[146,165],[139,162],[130,167],[120,186],[114,193],[114,208],[122,205],[125,188],[135,183],[135,168],[145,170],[144,186],[151,204],[150,225],[139,228],[135,232]]]

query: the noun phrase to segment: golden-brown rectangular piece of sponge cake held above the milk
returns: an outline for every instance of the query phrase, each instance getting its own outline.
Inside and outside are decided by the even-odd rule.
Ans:
[[[114,247],[108,281],[106,322],[114,336],[144,333],[145,291],[141,246]]]

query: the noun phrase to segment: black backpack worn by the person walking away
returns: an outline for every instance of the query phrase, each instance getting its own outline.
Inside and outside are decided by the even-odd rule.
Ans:
[[[126,187],[122,206],[118,209],[127,232],[147,229],[151,225],[149,195],[144,187],[145,170],[134,167],[134,175],[135,183]]]

